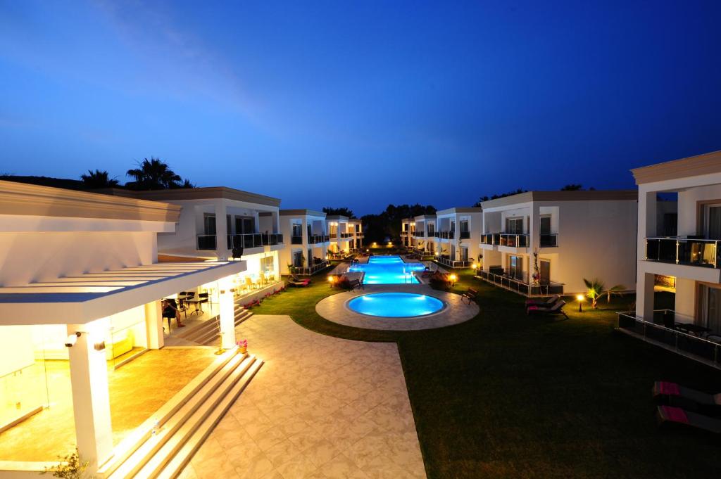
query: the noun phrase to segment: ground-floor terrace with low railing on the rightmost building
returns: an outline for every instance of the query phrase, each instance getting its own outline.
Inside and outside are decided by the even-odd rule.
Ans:
[[[619,313],[618,331],[660,346],[681,356],[721,369],[721,336],[712,332],[705,338],[679,331],[673,310],[655,310],[653,322],[634,313]],[[681,324],[678,324],[681,327]]]

